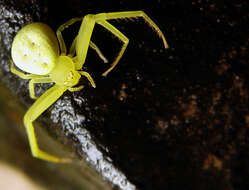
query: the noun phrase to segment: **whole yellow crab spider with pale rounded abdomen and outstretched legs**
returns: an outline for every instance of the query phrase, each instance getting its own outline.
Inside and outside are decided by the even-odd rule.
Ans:
[[[81,90],[83,88],[82,85],[76,86],[81,76],[86,77],[92,87],[95,88],[94,80],[90,74],[81,71],[89,46],[96,51],[104,62],[107,62],[99,48],[90,41],[95,23],[109,30],[123,42],[123,46],[113,64],[103,73],[103,76],[106,76],[119,62],[129,41],[124,34],[107,22],[107,20],[132,17],[143,17],[157,32],[159,37],[162,38],[165,48],[168,46],[161,30],[143,11],[89,14],[83,18],[73,18],[62,24],[57,29],[56,35],[48,25],[43,23],[31,23],[17,33],[12,44],[11,55],[14,64],[25,73],[15,69],[12,62],[11,72],[23,79],[30,79],[29,93],[33,99],[36,99],[34,90],[36,83],[55,83],[54,86],[49,88],[35,101],[24,116],[24,126],[34,157],[51,162],[70,161],[70,159],[58,158],[39,149],[33,122],[66,90],[71,92]],[[82,21],[80,30],[67,54],[61,32],[77,21]]]

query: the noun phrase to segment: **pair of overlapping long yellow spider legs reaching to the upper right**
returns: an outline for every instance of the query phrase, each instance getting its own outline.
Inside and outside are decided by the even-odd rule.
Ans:
[[[95,26],[95,23],[98,23],[117,36],[124,44],[114,60],[112,66],[103,73],[103,76],[106,76],[119,62],[121,59],[126,46],[128,44],[128,38],[124,36],[118,29],[114,26],[109,24],[106,20],[111,19],[124,19],[124,18],[134,18],[134,17],[142,17],[158,34],[160,38],[163,40],[164,47],[167,48],[168,44],[167,41],[159,29],[159,27],[143,12],[143,11],[127,11],[127,12],[114,12],[114,13],[100,13],[96,15],[86,15],[83,18],[80,31],[78,34],[78,39],[76,42],[76,54],[79,60],[78,68],[82,68],[83,64],[85,63],[88,46],[90,43],[91,35]]]

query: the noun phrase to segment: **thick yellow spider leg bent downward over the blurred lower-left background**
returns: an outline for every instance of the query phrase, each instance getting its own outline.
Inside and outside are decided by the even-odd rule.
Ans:
[[[24,126],[26,128],[32,155],[36,158],[51,162],[70,162],[71,159],[58,158],[39,149],[33,122],[50,107],[67,89],[60,86],[53,86],[41,95],[29,108],[24,116]]]

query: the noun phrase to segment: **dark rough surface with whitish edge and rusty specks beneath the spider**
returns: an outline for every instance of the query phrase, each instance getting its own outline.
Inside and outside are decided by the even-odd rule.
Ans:
[[[83,70],[97,88],[66,92],[38,121],[114,189],[249,188],[248,1],[0,0],[0,8],[1,81],[26,109],[28,81],[9,72],[21,27],[41,21],[56,30],[90,13],[146,12],[169,48],[143,19],[110,21],[130,43],[102,77],[122,43],[96,26],[92,40],[109,63],[89,50]],[[63,32],[67,47],[79,25]]]

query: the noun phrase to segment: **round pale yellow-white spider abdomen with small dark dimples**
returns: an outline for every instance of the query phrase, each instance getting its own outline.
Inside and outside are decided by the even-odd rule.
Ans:
[[[59,46],[53,30],[43,23],[23,27],[14,38],[11,54],[15,65],[28,73],[46,75],[59,56]]]

